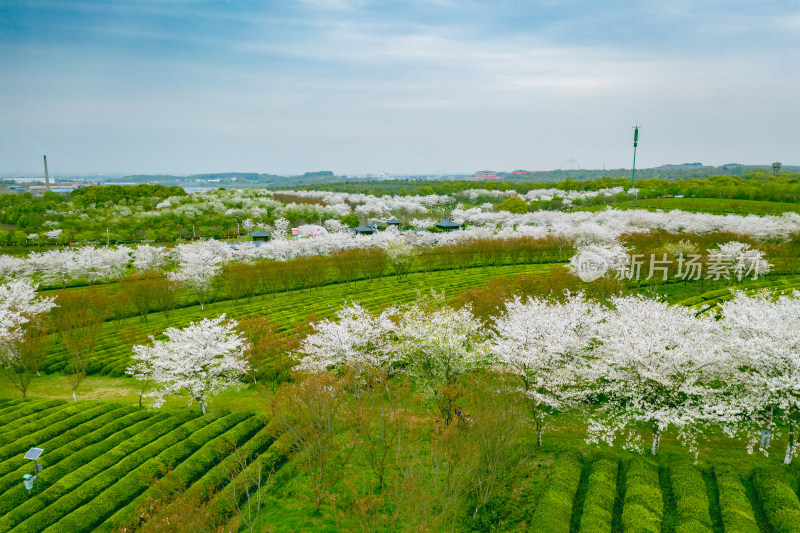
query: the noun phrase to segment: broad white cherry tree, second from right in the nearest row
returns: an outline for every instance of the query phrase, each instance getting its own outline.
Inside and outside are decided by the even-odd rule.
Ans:
[[[603,379],[596,392],[607,395],[590,420],[587,442],[613,445],[615,434],[635,424],[652,431],[651,452],[662,433],[673,427],[696,453],[703,423],[720,419],[723,405],[709,385],[725,364],[719,349],[719,326],[692,309],[670,306],[643,296],[612,298],[614,309],[598,328],[591,361]],[[640,437],[628,433],[625,447],[639,449]]]

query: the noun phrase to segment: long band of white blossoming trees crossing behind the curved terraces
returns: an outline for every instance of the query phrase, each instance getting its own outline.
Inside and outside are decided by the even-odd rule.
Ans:
[[[202,243],[178,245],[170,256],[165,248],[150,245],[135,249],[120,246],[50,250],[31,253],[27,258],[0,255],[0,278],[32,275],[43,283],[64,285],[69,280],[79,278],[89,281],[114,279],[122,276],[129,265],[141,271],[162,266],[167,259],[175,260],[180,265],[190,264],[191,258],[198,256],[213,256],[216,258],[212,261],[214,264],[231,260],[283,261],[300,256],[330,255],[343,249],[390,247],[395,242],[424,248],[476,239],[509,239],[521,236],[545,238],[555,235],[579,244],[606,244],[614,242],[625,233],[646,233],[659,229],[671,233],[694,234],[728,231],[759,239],[786,238],[800,232],[800,215],[795,213],[787,213],[782,217],[721,217],[614,210],[602,213],[540,212],[525,215],[505,212],[470,213],[471,211],[454,211],[454,218],[457,221],[469,220],[483,225],[450,233],[399,233],[390,228],[375,235],[352,235],[344,231],[342,224],[332,220],[327,224],[328,231],[323,234],[313,238],[286,239],[289,222],[278,219],[273,227],[274,239],[261,246],[253,243],[228,246],[212,239]],[[250,223],[255,227],[255,222]],[[496,224],[499,226],[496,227]]]

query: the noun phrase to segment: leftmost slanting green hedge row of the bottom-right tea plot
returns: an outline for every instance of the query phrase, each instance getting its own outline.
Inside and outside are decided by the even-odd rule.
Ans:
[[[572,507],[581,479],[581,454],[568,448],[556,456],[531,519],[531,531],[569,533]]]

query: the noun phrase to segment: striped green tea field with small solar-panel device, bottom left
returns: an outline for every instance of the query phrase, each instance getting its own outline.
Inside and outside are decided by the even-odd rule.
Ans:
[[[148,494],[145,479],[173,467],[192,491],[227,496],[223,443],[259,454],[268,467],[285,456],[272,448],[263,418],[251,411],[153,411],[85,401],[0,403],[0,531],[110,531]],[[43,448],[40,493],[29,495],[23,458]]]

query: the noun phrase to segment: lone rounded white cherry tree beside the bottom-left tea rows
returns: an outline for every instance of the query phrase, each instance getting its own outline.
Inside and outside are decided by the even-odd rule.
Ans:
[[[161,407],[168,396],[184,395],[200,404],[203,414],[210,397],[242,385],[249,371],[245,351],[249,345],[225,315],[192,322],[184,329],[167,328],[168,340],[152,339],[151,345],[133,347],[137,362],[126,373],[153,388],[146,398]]]

